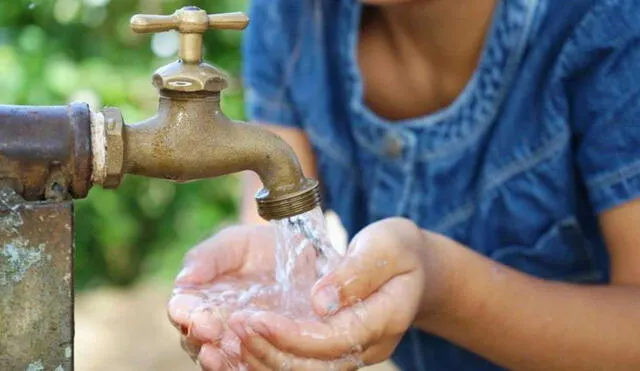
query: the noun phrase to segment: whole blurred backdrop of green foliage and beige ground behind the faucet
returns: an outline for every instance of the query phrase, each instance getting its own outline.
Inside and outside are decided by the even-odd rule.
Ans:
[[[0,102],[119,107],[126,122],[155,113],[153,71],[175,59],[174,32],[137,35],[135,13],[185,5],[210,13],[246,0],[0,0]],[[244,119],[242,33],[209,32],[205,59],[227,71],[223,110]],[[79,371],[195,370],[164,306],[184,253],[233,223],[233,176],[190,184],[127,176],[117,191],[94,188],[76,202],[76,367]]]

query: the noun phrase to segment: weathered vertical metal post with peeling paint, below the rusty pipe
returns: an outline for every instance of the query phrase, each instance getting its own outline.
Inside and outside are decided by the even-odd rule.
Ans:
[[[72,213],[0,189],[0,370],[73,370]]]

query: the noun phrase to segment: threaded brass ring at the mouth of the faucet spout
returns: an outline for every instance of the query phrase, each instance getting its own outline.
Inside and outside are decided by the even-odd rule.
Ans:
[[[258,214],[266,220],[279,220],[304,214],[320,206],[320,187],[316,180],[306,179],[296,192],[271,196],[262,190],[256,195]]]

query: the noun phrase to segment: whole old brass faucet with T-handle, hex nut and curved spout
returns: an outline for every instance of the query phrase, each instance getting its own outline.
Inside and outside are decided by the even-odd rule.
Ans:
[[[197,7],[131,18],[138,33],[177,30],[180,59],[153,75],[160,94],[155,116],[125,125],[115,108],[92,113],[94,184],[115,188],[125,173],[185,182],[251,170],[264,186],[256,195],[263,218],[283,219],[319,205],[318,182],[304,177],[282,139],[257,125],[232,121],[220,108],[227,81],[202,61],[203,34],[242,30],[248,23],[242,13],[208,15]]]

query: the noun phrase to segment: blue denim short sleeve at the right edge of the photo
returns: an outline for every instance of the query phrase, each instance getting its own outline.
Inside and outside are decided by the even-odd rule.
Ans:
[[[640,197],[640,6],[601,1],[572,40],[576,161],[597,213]]]

